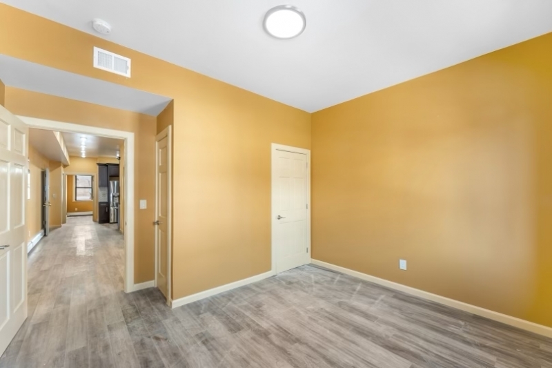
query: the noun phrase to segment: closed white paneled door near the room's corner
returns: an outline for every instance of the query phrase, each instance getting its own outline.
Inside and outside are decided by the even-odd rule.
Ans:
[[[273,146],[273,257],[277,273],[310,262],[308,151],[293,149]]]

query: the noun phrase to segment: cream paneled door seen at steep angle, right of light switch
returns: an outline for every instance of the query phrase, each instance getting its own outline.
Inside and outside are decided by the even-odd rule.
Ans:
[[[170,126],[155,146],[155,284],[170,304]]]

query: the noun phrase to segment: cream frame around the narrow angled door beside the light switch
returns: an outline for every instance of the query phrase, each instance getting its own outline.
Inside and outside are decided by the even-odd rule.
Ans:
[[[155,221],[159,220],[157,219],[157,213],[159,211],[159,203],[157,202],[157,198],[159,196],[157,195],[157,192],[159,191],[159,184],[157,182],[157,178],[159,173],[157,172],[159,170],[159,166],[157,165],[157,155],[159,154],[159,150],[157,149],[157,142],[159,142],[159,139],[163,139],[164,137],[167,137],[167,151],[168,151],[168,158],[167,158],[167,166],[168,166],[168,175],[167,175],[167,182],[168,182],[168,193],[167,193],[167,242],[168,242],[168,250],[167,250],[167,305],[170,307],[172,304],[172,129],[171,126],[167,126],[164,128],[164,130],[161,130],[161,133],[159,133],[155,137]],[[158,247],[159,247],[159,238],[157,237],[157,228],[155,229],[155,287],[157,287],[157,253],[158,253]]]

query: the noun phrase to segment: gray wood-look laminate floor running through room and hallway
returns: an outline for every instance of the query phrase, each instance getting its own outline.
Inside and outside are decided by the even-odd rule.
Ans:
[[[122,272],[109,226],[52,232],[0,367],[552,367],[550,339],[316,267],[173,310]]]

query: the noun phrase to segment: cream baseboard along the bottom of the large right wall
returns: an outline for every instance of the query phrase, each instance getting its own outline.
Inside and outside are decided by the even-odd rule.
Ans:
[[[482,307],[476,307],[475,305],[460,302],[458,300],[446,298],[444,296],[438,296],[437,294],[428,293],[420,289],[415,289],[413,287],[407,287],[403,284],[397,284],[397,282],[384,280],[382,278],[377,278],[372,275],[367,275],[359,271],[353,271],[351,269],[346,269],[345,267],[336,266],[335,264],[322,262],[319,260],[311,260],[312,264],[315,264],[326,269],[331,269],[333,271],[341,272],[346,275],[353,276],[355,278],[360,278],[362,280],[373,282],[374,284],[379,284],[389,289],[394,289],[397,291],[402,291],[403,293],[410,294],[412,296],[417,296],[426,300],[431,300],[432,302],[437,302],[439,304],[444,304],[448,307],[453,307],[460,309],[461,311],[466,311],[468,313],[475,314],[484,318],[489,318],[489,320],[495,320],[497,322],[502,322],[505,325],[510,325],[517,327],[518,329],[524,329],[525,331],[530,331],[533,333],[538,333],[539,335],[552,338],[552,328],[546,327],[543,325],[538,325],[534,322],[529,322],[522,320],[520,318],[515,318],[512,316],[507,316],[506,314],[498,313],[495,311],[490,311],[489,309],[484,309]]]

